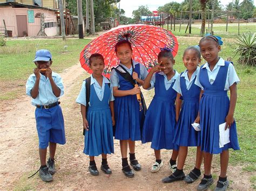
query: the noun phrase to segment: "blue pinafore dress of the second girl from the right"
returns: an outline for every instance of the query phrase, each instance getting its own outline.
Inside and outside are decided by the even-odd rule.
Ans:
[[[183,73],[181,73],[183,74]],[[200,132],[194,130],[191,125],[197,118],[199,109],[199,96],[201,88],[198,87],[193,80],[189,90],[186,87],[185,77],[180,77],[180,89],[183,97],[183,104],[176,126],[176,132],[173,143],[179,146],[200,146]]]

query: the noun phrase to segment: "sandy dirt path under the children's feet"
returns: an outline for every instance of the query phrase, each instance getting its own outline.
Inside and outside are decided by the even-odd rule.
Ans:
[[[83,154],[82,122],[79,106],[75,103],[82,80],[85,79],[84,70],[79,63],[66,69],[60,74],[63,77],[65,96],[60,98],[65,118],[66,139],[64,146],[57,147],[57,173],[51,183],[42,182],[38,174],[31,179],[29,175],[39,167],[38,140],[35,124],[35,108],[30,104],[28,96],[21,96],[17,100],[4,102],[0,106],[0,189],[196,189],[199,181],[187,185],[185,182],[171,184],[161,183],[161,178],[170,174],[167,161],[171,152],[164,150],[162,158],[164,167],[156,174],[150,172],[154,161],[150,144],[137,143],[136,156],[142,164],[142,171],[136,172],[136,177],[126,178],[121,172],[121,157],[119,143],[114,142],[115,154],[109,156],[112,175],[100,172],[99,176],[92,176],[87,171],[89,158]],[[24,91],[25,92],[25,91]],[[144,94],[147,102],[151,94]],[[194,164],[194,154],[189,152],[185,172],[188,173]],[[215,180],[219,174],[218,156],[213,163]],[[98,168],[100,157],[96,158]],[[230,166],[228,176],[232,189],[250,189],[250,173],[244,173],[241,180],[237,172],[241,166]],[[214,183],[215,186],[215,183]],[[212,186],[212,188],[214,188]]]

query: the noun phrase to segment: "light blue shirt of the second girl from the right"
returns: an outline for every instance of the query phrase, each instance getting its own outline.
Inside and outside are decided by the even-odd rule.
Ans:
[[[179,76],[177,77],[174,85],[173,85],[173,89],[175,91],[177,91],[177,93],[179,93],[180,95],[182,95],[181,93],[181,88],[180,88],[180,77],[185,77],[185,81],[186,81],[186,88],[187,90],[189,90],[193,84],[193,80],[197,77],[198,72],[199,72],[199,67],[197,67],[197,69],[194,71],[194,73],[191,76],[191,79],[188,79],[188,75],[187,75],[187,69],[184,71],[184,73],[179,74]]]

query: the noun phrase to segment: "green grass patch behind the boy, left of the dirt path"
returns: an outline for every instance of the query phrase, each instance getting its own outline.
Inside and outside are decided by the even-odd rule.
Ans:
[[[52,69],[61,72],[79,61],[79,54],[89,43],[87,39],[9,40],[0,47],[0,80],[26,80],[33,73],[36,48],[49,49]],[[68,46],[66,51],[64,45]]]

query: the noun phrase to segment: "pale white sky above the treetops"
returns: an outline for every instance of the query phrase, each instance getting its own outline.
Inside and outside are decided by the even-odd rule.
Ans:
[[[181,3],[183,0],[173,0],[175,2]],[[132,17],[132,11],[138,9],[140,5],[147,5],[150,11],[157,10],[159,6],[163,6],[171,1],[166,0],[121,0],[120,9],[125,11],[126,17]],[[222,5],[227,5],[232,2],[232,0],[220,0]],[[242,2],[242,0],[240,0]],[[256,0],[254,0],[254,5],[256,5]]]

